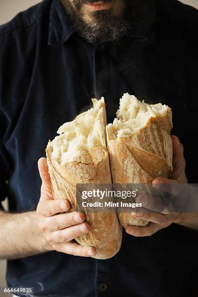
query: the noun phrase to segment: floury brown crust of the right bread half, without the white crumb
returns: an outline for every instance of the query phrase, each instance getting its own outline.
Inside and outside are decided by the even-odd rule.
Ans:
[[[172,173],[172,112],[164,117],[151,117],[135,135],[113,139],[106,127],[107,144],[113,183],[152,183],[158,176]],[[121,225],[147,226],[148,221],[137,219],[131,213],[118,213]]]

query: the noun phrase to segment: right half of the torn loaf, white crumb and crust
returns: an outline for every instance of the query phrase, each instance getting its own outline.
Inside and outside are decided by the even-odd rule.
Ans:
[[[140,102],[128,93],[120,99],[113,124],[106,127],[113,183],[152,183],[172,173],[172,111],[161,103]],[[119,221],[147,226],[148,221],[119,213]]]

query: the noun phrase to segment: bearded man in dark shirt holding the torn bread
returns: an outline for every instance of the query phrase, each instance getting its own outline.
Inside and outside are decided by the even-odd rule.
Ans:
[[[148,227],[129,226],[115,257],[96,260],[93,247],[73,241],[89,225],[83,214],[60,214],[69,204],[53,200],[46,159],[38,162],[41,190],[37,171],[48,139],[92,97],[105,97],[111,122],[129,92],[172,108],[188,182],[197,182],[197,31],[198,11],[176,0],[44,0],[0,27],[8,286],[34,287],[34,296],[197,296],[198,214],[142,214]],[[179,139],[172,136],[172,180],[153,182],[187,182]]]

